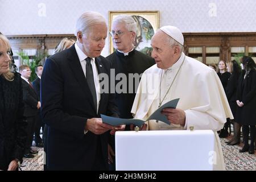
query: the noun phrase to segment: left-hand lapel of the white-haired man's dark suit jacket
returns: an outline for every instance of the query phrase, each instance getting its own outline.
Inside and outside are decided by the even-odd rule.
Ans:
[[[90,97],[88,97],[90,100],[90,105],[92,106],[93,110],[96,112],[96,110],[94,109],[92,94],[90,93],[90,89],[87,84],[84,72],[82,71],[79,57],[77,56],[77,53],[76,53],[75,44],[71,48],[69,48],[68,60],[69,60],[69,67],[73,72],[73,76],[75,76],[77,82],[79,82],[82,92],[84,94],[90,94]]]

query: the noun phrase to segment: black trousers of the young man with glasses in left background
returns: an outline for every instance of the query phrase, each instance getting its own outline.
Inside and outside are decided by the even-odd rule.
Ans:
[[[31,150],[33,135],[35,131],[36,115],[27,117],[27,142],[25,147],[25,154],[28,154]]]

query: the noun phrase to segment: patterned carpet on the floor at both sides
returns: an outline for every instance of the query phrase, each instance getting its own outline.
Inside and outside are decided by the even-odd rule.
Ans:
[[[240,146],[228,146],[226,141],[228,138],[221,138],[221,145],[224,154],[224,161],[226,164],[226,170],[228,171],[256,171],[256,155],[245,153],[239,153]],[[23,171],[43,171],[43,148],[33,147],[34,150],[38,150],[35,158],[26,159],[23,158],[21,167]]]

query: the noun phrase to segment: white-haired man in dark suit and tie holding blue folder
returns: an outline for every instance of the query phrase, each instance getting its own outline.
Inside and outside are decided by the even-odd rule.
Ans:
[[[100,114],[118,115],[114,94],[101,93],[98,79],[110,76],[109,61],[100,56],[107,30],[101,14],[86,12],[77,20],[77,42],[46,60],[41,101],[48,170],[108,169],[107,131],[114,127]]]

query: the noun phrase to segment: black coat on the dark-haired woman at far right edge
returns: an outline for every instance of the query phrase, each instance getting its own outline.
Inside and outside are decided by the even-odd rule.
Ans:
[[[243,102],[237,107],[236,122],[241,125],[256,125],[256,71],[251,70],[245,79],[245,71],[240,76],[237,86],[237,100]]]

